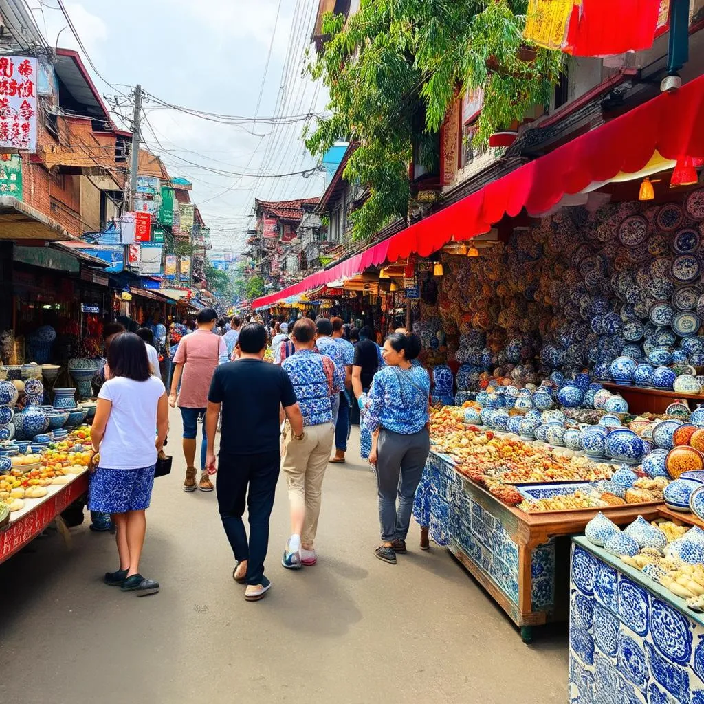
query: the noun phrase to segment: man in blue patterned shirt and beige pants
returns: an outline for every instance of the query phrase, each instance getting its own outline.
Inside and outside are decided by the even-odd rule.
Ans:
[[[313,543],[318,532],[322,480],[329,460],[335,427],[332,400],[344,389],[334,362],[315,350],[315,323],[310,318],[296,321],[291,339],[296,352],[282,362],[291,378],[303,414],[303,434],[284,431],[282,470],[289,484],[291,537],[282,565],[300,570],[318,561]]]

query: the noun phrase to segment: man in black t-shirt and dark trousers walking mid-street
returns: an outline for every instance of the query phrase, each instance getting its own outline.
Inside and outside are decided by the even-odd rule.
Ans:
[[[237,560],[232,577],[247,584],[247,601],[258,601],[271,587],[264,576],[264,559],[281,464],[282,408],[294,437],[303,438],[303,416],[291,379],[281,367],[263,360],[265,346],[263,325],[253,322],[241,329],[239,359],[215,370],[206,414],[206,467],[214,474],[215,424],[222,406],[215,489],[222,525]],[[249,507],[249,543],[242,522],[245,501]]]

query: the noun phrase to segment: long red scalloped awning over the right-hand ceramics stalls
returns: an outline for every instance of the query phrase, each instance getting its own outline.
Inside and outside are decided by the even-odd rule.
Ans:
[[[302,294],[367,267],[394,262],[416,252],[429,256],[452,239],[489,232],[504,215],[546,213],[563,196],[620,172],[640,171],[655,151],[666,159],[704,158],[704,76],[678,91],[664,93],[555,151],[527,163],[439,213],[375,244],[330,269],[313,274],[283,291],[253,301],[253,308]]]

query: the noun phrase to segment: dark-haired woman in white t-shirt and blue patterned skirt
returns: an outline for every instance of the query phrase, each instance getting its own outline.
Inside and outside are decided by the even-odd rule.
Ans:
[[[123,332],[108,349],[106,382],[98,394],[92,441],[99,462],[90,477],[89,509],[110,513],[117,528],[120,569],[107,572],[105,583],[137,596],[159,591],[158,582],[139,574],[139,558],[154,468],[167,429],[164,384],[150,374],[144,341]]]

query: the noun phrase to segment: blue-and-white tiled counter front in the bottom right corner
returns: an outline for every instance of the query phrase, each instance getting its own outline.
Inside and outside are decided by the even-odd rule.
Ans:
[[[575,538],[569,687],[575,704],[704,704],[704,616]]]

